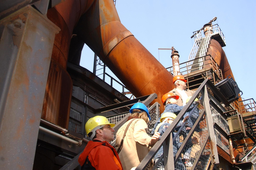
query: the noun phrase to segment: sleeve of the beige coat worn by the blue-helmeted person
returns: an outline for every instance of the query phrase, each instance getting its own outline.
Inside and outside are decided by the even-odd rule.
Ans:
[[[138,119],[134,124],[133,137],[136,143],[148,147],[151,137],[147,134],[148,125],[143,119]]]

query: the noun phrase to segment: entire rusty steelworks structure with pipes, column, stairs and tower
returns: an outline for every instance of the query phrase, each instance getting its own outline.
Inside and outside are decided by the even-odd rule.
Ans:
[[[164,110],[161,96],[174,88],[173,76],[179,74],[196,92],[136,170],[145,169],[161,146],[164,169],[177,169],[185,157],[193,164],[185,169],[254,169],[255,101],[241,98],[216,19],[193,32],[187,62],[179,63],[172,47],[173,66],[164,68],[121,24],[115,0],[1,2],[1,169],[79,170],[78,156],[90,140],[86,121],[105,116],[116,132],[137,102],[149,109],[151,135]],[[93,73],[79,65],[84,43],[95,53]],[[202,101],[190,113],[195,123],[184,122],[172,137],[195,98]],[[173,143],[179,145],[175,156]]]

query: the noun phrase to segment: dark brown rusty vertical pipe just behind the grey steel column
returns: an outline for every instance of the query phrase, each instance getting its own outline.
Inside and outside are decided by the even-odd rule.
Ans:
[[[41,118],[64,128],[68,128],[73,86],[66,70],[72,32],[92,3],[93,0],[67,0],[47,12],[61,31],[55,36]]]

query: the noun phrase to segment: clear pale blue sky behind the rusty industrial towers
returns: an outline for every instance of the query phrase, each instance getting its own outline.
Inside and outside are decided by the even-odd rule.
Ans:
[[[244,99],[254,98],[256,1],[150,1],[116,0],[121,23],[164,67],[172,66],[171,48],[188,60],[194,39],[190,37],[214,17],[226,39],[223,47]],[[92,71],[94,53],[84,47],[80,65]]]

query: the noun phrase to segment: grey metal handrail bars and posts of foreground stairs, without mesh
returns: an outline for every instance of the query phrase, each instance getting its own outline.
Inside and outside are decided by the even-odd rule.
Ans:
[[[183,119],[184,114],[188,111],[189,107],[192,105],[193,101],[195,100],[196,97],[198,97],[199,93],[202,93],[203,96],[203,103],[204,103],[204,107],[205,107],[205,113],[206,113],[206,122],[207,122],[207,128],[208,128],[208,134],[206,135],[207,138],[204,139],[204,142],[199,151],[200,155],[203,153],[203,147],[206,145],[207,140],[211,140],[211,155],[215,155],[211,157],[211,161],[212,163],[218,163],[218,152],[217,152],[217,145],[216,145],[216,138],[215,138],[215,134],[214,134],[214,128],[213,128],[213,122],[212,122],[212,118],[211,118],[211,110],[210,110],[210,101],[208,98],[208,92],[207,92],[207,87],[209,87],[213,94],[215,94],[218,98],[220,98],[222,101],[224,101],[223,103],[227,104],[228,101],[226,101],[225,97],[218,91],[218,89],[212,84],[212,82],[209,79],[204,80],[204,82],[199,86],[199,88],[196,90],[196,92],[194,93],[194,95],[192,96],[191,100],[184,106],[184,108],[181,110],[181,112],[177,115],[176,119],[174,119],[174,121],[171,123],[171,125],[167,128],[167,130],[163,133],[163,135],[161,136],[161,140],[157,141],[156,144],[151,148],[151,150],[149,151],[149,153],[146,155],[146,157],[141,161],[141,163],[137,166],[137,168],[135,170],[142,170],[145,169],[146,166],[148,165],[148,163],[152,160],[152,158],[154,157],[154,155],[157,153],[157,151],[160,149],[161,146],[164,146],[164,148],[166,149],[164,152],[164,166],[167,169],[174,169],[174,162],[177,162],[177,158],[173,157],[173,146],[172,146],[172,142],[170,142],[170,140],[172,141],[172,132],[174,131],[174,128],[177,126],[177,124],[180,122],[180,120]],[[202,112],[201,112],[202,114]],[[202,117],[202,115],[201,115]],[[197,119],[197,122],[195,124],[199,123],[199,119]],[[193,128],[195,128],[195,126],[193,126]],[[187,140],[189,140],[189,138],[192,136],[193,130],[191,130],[188,134],[188,136],[186,137],[186,139],[183,142],[187,142]],[[171,143],[171,144],[170,144]],[[168,147],[169,145],[169,147]],[[185,144],[184,144],[185,145]],[[181,146],[181,147],[184,147]],[[182,149],[182,148],[180,148]],[[178,150],[177,154],[181,154],[181,150]],[[166,154],[168,153],[168,154]],[[197,161],[199,160],[199,157],[197,156]],[[193,165],[192,169],[195,169],[196,165]]]

